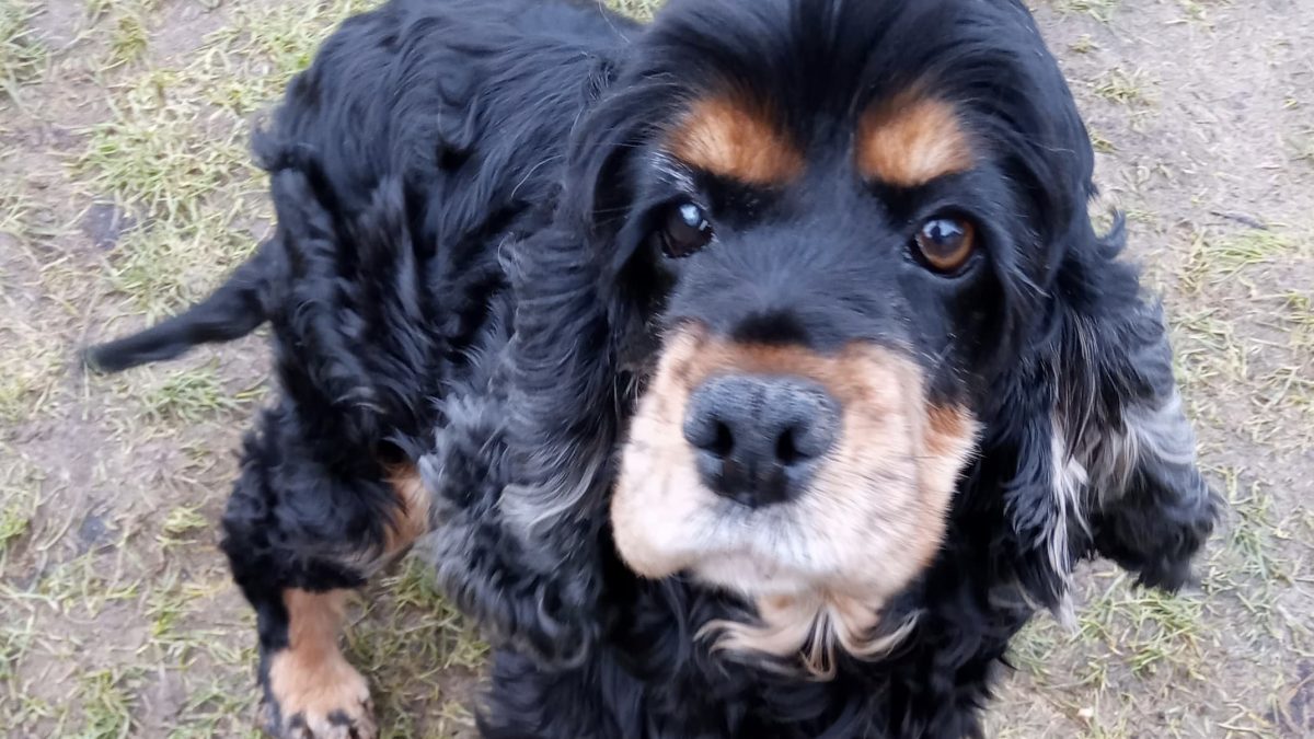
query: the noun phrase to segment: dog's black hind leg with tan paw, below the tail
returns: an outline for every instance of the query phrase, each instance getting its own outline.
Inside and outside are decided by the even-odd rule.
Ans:
[[[430,530],[428,497],[411,467],[353,476],[315,463],[277,442],[288,426],[271,414],[248,442],[223,518],[234,580],[256,611],[265,727],[373,739],[368,682],[339,648],[346,601]]]

